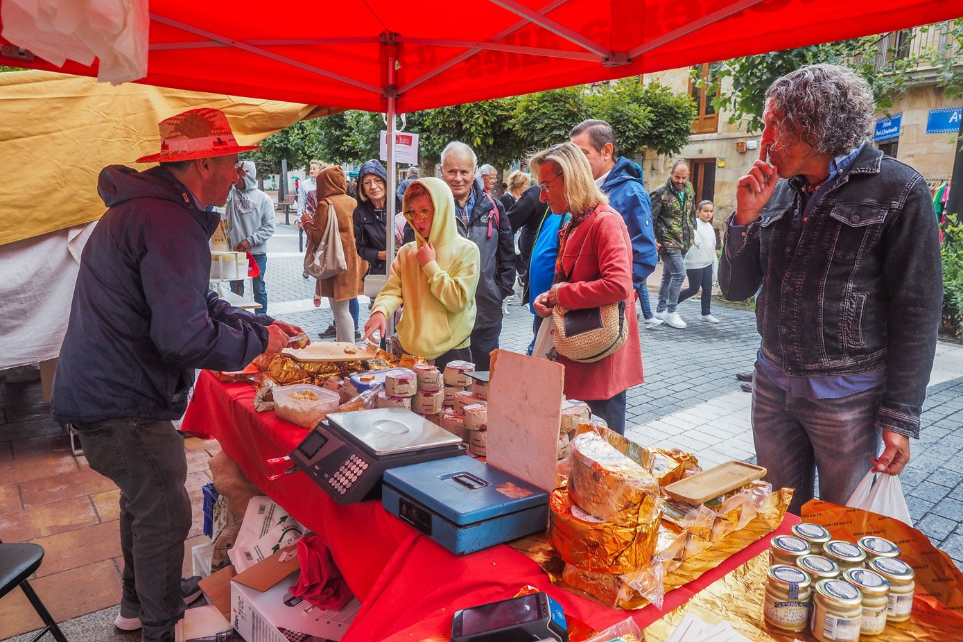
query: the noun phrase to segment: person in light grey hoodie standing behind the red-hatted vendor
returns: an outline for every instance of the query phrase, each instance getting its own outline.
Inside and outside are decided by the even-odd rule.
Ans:
[[[268,239],[274,234],[274,202],[257,189],[257,169],[250,161],[237,166],[237,183],[227,196],[227,242],[235,252],[248,252],[257,264],[252,277],[254,301],[261,304],[258,314],[268,314],[268,290],[264,273],[268,270]],[[231,290],[244,295],[244,281],[231,281]]]

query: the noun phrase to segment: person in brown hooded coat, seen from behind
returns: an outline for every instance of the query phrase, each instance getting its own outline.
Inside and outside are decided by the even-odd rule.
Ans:
[[[326,296],[331,312],[334,313],[337,340],[353,342],[354,321],[351,320],[349,304],[352,298],[364,294],[364,275],[368,271],[368,262],[358,256],[354,247],[353,213],[357,201],[348,195],[348,182],[341,166],[323,168],[315,180],[318,205],[314,218],[306,214],[301,216],[304,232],[307,233],[310,244],[317,246],[325,234],[328,206],[333,207],[338,218],[338,234],[344,246],[348,270],[319,280],[314,291],[314,304],[320,305],[321,297]]]

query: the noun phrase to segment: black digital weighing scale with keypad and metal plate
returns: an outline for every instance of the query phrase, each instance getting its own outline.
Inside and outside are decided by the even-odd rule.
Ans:
[[[377,497],[388,469],[464,451],[459,437],[407,408],[373,408],[328,415],[291,459],[345,505]]]

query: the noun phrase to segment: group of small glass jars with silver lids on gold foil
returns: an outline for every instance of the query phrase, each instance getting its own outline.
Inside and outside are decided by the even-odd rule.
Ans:
[[[899,549],[881,537],[856,544],[833,540],[815,524],[772,538],[764,617],[776,629],[807,626],[820,642],[855,642],[878,635],[887,622],[909,619],[914,572]]]

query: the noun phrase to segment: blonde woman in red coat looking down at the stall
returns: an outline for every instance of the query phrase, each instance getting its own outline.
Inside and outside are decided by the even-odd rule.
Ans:
[[[556,305],[577,310],[626,302],[629,334],[622,347],[592,363],[559,356],[565,367],[565,397],[587,401],[612,430],[624,433],[625,391],[643,380],[629,232],[592,180],[586,155],[574,144],[540,151],[531,165],[542,201],[552,212],[572,215],[559,233],[555,285],[535,299],[535,313],[548,317]]]

